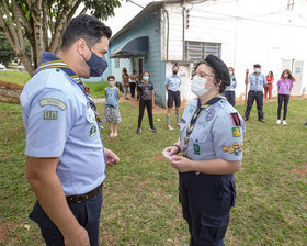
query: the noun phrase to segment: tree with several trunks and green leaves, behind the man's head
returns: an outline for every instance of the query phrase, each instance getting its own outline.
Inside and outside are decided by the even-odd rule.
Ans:
[[[84,8],[79,14],[89,10],[102,20],[114,15],[114,8],[121,7],[120,0],[0,1],[0,30],[30,75],[37,68],[44,51],[59,49],[62,33],[81,3]],[[26,40],[32,46],[33,60],[26,55]]]

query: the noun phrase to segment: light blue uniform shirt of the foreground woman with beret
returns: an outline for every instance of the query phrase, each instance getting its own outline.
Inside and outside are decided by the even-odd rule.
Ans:
[[[197,100],[193,100],[184,109],[180,125],[181,149],[196,108]],[[203,109],[190,135],[186,157],[192,160],[241,160],[246,125],[239,113],[241,126],[235,125],[230,114],[236,112],[225,99]]]

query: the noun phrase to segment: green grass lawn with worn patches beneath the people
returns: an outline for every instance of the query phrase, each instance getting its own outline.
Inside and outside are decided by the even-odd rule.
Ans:
[[[98,104],[102,114],[104,104]],[[264,104],[266,123],[255,105],[247,122],[242,169],[236,174],[237,201],[230,213],[227,246],[305,246],[307,242],[307,100],[291,100],[287,126],[276,125],[276,102]],[[183,245],[189,242],[178,203],[178,174],[161,155],[179,131],[166,130],[164,114],[147,115],[136,134],[138,110],[120,104],[120,136],[104,145],[121,163],[107,168],[101,219],[103,245]],[[242,113],[242,105],[238,107]],[[174,114],[171,122],[174,123]],[[25,135],[21,107],[0,103],[0,245],[44,245],[27,219],[34,194],[25,179]],[[209,202],[209,201],[208,201]]]

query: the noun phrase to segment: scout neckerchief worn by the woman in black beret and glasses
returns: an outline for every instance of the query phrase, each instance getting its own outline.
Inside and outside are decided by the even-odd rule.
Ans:
[[[218,102],[220,99],[226,99],[226,98],[223,94],[217,94],[215,98],[211,99],[205,104],[201,104],[201,100],[200,99],[197,100],[197,108],[196,108],[196,110],[195,110],[195,112],[194,112],[194,114],[193,114],[193,116],[191,119],[190,125],[189,125],[189,127],[186,130],[186,136],[184,137],[184,143],[183,143],[183,148],[182,148],[183,156],[186,156],[189,138],[190,138],[190,135],[192,134],[192,132],[194,130],[196,120],[197,120],[201,111],[203,109],[209,108],[212,104]]]

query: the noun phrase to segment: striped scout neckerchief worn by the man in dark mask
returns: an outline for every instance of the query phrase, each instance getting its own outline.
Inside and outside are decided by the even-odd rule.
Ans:
[[[96,107],[95,107],[95,103],[92,99],[92,96],[91,96],[90,91],[86,92],[86,90],[84,90],[84,86],[86,86],[84,82],[80,79],[80,77],[75,71],[72,71],[67,66],[67,64],[65,64],[62,60],[60,60],[56,55],[54,55],[52,53],[48,53],[48,52],[44,52],[41,64],[39,64],[39,67],[36,69],[36,71],[34,72],[33,76],[35,76],[37,72],[39,72],[42,70],[49,69],[49,68],[61,69],[80,87],[80,89],[83,91],[83,93],[88,98],[88,100],[90,102],[90,107],[94,111],[95,120],[96,120],[100,133],[102,134],[104,128],[102,126],[101,120],[100,120],[99,114],[96,112]]]

